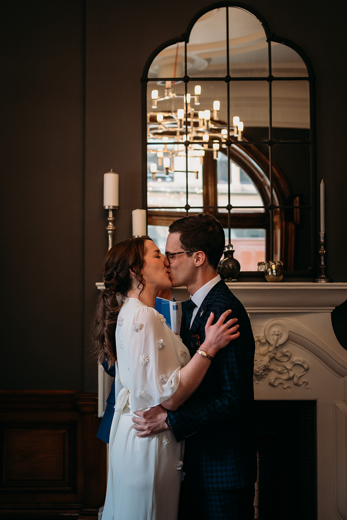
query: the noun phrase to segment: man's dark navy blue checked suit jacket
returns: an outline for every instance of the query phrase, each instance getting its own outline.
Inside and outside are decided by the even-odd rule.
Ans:
[[[180,335],[191,357],[205,339],[210,313],[215,323],[238,318],[240,336],[214,357],[197,391],[168,418],[177,441],[185,439],[185,484],[206,490],[239,489],[256,480],[253,426],[254,337],[248,314],[223,280],[214,285],[189,330],[184,308]]]

